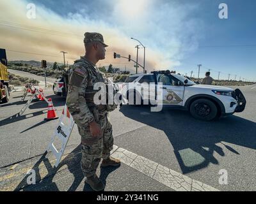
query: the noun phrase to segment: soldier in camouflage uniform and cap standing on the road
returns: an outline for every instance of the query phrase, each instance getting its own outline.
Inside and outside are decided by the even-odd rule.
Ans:
[[[104,44],[99,33],[85,33],[84,45],[85,56],[75,61],[68,73],[66,103],[81,135],[81,168],[86,183],[93,190],[102,191],[104,184],[95,174],[100,159],[103,159],[101,166],[120,165],[118,159],[110,157],[113,135],[108,112],[114,110],[116,105],[95,105],[93,101],[97,92],[93,90],[93,85],[97,82],[106,83],[104,73],[101,73],[95,64],[105,59],[105,47],[108,45]]]

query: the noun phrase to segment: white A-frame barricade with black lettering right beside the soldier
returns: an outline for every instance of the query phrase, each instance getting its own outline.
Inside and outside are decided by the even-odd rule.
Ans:
[[[51,138],[51,142],[49,143],[47,147],[47,152],[52,152],[54,156],[56,157],[56,163],[54,164],[55,167],[57,167],[60,164],[61,156],[63,155],[63,152],[67,146],[68,139],[72,133],[72,129],[74,128],[75,121],[72,117],[72,115],[69,113],[67,105],[65,105],[65,108],[62,111],[60,120],[58,122],[58,126],[56,126],[54,130],[54,135]],[[60,150],[57,150],[54,142],[58,139],[61,142],[61,148]]]

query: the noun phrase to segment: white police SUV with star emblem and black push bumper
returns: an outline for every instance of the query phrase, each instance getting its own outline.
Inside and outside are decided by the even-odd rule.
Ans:
[[[158,84],[158,88],[163,89],[162,99],[159,100],[157,91],[148,91],[149,94],[143,96],[143,92],[138,92],[138,89],[134,89],[134,87],[129,89],[131,83],[134,84],[134,87],[140,87],[142,83],[153,83],[156,90]],[[162,84],[160,85],[160,83]],[[143,104],[143,99],[154,98],[156,104],[163,103],[163,105],[188,110],[193,117],[200,120],[213,120],[232,115],[235,112],[243,112],[246,105],[246,99],[239,89],[196,84],[169,70],[131,75],[125,80],[123,89],[125,86],[127,90],[125,99],[127,100],[130,99],[129,93],[132,91],[133,101],[139,97]],[[154,94],[154,96],[150,96],[150,94]]]

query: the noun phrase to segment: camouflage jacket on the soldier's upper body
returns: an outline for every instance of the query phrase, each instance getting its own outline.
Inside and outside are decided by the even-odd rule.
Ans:
[[[86,101],[85,94],[88,93],[88,90],[93,92],[93,85],[97,82],[106,83],[106,80],[104,73],[100,72],[97,66],[94,66],[85,57],[75,61],[68,71],[66,104],[77,126],[88,126],[93,120],[96,120],[97,116],[93,112],[95,105],[92,103],[93,101]],[[107,112],[107,110],[102,110],[102,112]]]

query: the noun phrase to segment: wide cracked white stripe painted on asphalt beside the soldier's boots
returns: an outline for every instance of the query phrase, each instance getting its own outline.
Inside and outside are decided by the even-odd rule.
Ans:
[[[131,168],[140,171],[175,191],[219,191],[212,186],[191,179],[182,173],[173,171],[150,159],[117,147],[116,145],[114,145],[114,149],[111,151],[111,156],[120,159],[122,163],[127,164]]]

